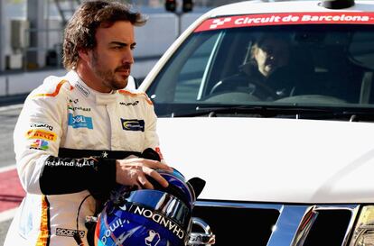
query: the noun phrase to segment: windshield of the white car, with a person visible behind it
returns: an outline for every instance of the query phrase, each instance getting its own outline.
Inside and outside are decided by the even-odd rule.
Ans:
[[[155,77],[146,93],[160,117],[372,114],[372,24],[222,24],[231,17],[201,23]]]

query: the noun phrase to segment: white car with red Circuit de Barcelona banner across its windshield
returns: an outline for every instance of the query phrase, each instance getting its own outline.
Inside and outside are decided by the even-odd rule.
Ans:
[[[261,83],[256,45],[288,61]],[[206,181],[207,238],[374,245],[373,72],[374,1],[239,2],[192,23],[139,89],[168,164]]]

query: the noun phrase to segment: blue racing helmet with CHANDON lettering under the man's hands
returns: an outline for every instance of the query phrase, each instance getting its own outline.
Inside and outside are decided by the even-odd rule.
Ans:
[[[129,190],[118,186],[112,192],[98,215],[96,246],[186,245],[192,227],[192,208],[205,182],[201,178],[186,181],[176,169],[157,171],[168,181],[168,187],[149,178],[154,189]],[[196,183],[200,187],[192,187]]]

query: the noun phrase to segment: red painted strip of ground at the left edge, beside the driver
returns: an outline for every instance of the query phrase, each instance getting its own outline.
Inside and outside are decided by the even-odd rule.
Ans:
[[[24,195],[16,169],[0,173],[0,213],[20,205]]]

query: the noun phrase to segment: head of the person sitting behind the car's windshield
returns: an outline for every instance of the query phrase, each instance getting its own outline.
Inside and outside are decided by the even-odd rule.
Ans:
[[[276,68],[288,64],[289,55],[289,47],[286,41],[276,38],[266,39],[255,51],[259,72],[268,77]]]

